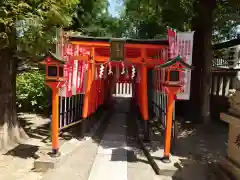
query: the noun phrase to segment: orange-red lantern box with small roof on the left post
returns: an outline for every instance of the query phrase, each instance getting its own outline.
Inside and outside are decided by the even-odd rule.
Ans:
[[[45,80],[51,82],[63,82],[65,61],[58,58],[54,53],[49,52],[41,64],[45,65]]]

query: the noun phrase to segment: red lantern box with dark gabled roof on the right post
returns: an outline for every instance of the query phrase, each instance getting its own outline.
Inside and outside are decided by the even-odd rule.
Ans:
[[[175,59],[171,59],[157,68],[165,68],[164,86],[182,87],[182,79],[180,77],[181,72],[185,69],[193,69],[193,67],[184,62],[179,56]]]

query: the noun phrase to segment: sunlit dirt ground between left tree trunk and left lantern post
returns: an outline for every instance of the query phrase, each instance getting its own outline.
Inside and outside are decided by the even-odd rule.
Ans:
[[[22,127],[29,139],[6,154],[0,155],[0,180],[39,180],[41,173],[32,171],[35,152],[47,145],[49,119],[36,114],[19,114]]]

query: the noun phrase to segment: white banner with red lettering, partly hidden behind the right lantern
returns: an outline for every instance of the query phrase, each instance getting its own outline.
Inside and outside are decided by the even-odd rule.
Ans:
[[[184,61],[192,65],[192,52],[193,52],[193,35],[194,32],[178,32],[177,33],[177,44],[179,49],[179,55],[184,58]],[[185,70],[182,74],[183,78],[183,88],[177,94],[177,99],[179,100],[189,100],[190,99],[190,83],[191,83],[191,71]]]

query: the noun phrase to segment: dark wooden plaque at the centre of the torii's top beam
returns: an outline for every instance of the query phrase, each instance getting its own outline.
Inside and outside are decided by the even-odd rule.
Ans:
[[[121,61],[124,60],[124,39],[111,39],[110,42],[110,60]]]

